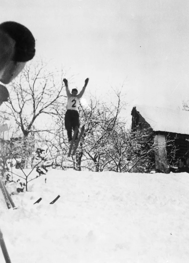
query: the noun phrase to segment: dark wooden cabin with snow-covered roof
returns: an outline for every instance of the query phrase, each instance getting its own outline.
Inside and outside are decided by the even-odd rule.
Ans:
[[[189,162],[189,111],[135,105],[131,115],[133,131],[148,129],[153,135],[156,171],[169,173],[181,157]]]

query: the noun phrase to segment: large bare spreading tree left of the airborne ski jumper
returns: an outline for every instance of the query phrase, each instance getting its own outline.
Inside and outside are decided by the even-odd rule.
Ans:
[[[10,84],[10,98],[7,102],[6,116],[13,117],[17,130],[23,135],[23,156],[28,156],[28,135],[40,132],[54,133],[48,121],[56,115],[64,97],[62,90],[63,72],[59,75],[50,72],[43,60],[32,61]],[[58,79],[59,76],[59,79]],[[46,125],[42,125],[45,123]]]

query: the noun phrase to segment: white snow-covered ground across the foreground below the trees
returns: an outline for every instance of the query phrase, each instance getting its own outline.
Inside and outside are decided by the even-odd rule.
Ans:
[[[13,195],[17,209],[1,207],[12,263],[188,262],[188,173],[52,169],[44,178]]]

